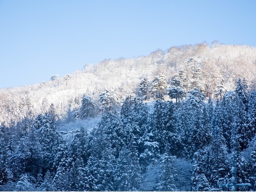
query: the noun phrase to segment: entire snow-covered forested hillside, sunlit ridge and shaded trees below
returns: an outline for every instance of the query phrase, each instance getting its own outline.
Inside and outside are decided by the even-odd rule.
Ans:
[[[82,67],[0,89],[0,191],[256,191],[255,47]]]

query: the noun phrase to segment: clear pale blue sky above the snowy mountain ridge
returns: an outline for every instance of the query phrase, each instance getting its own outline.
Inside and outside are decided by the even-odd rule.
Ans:
[[[184,44],[256,46],[256,0],[0,0],[0,88]]]

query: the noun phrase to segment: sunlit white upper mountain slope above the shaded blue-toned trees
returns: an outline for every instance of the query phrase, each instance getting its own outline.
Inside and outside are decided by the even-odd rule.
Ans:
[[[216,42],[211,46],[207,43],[175,46],[165,51],[158,49],[149,56],[85,64],[81,71],[41,84],[0,89],[0,121],[10,122],[12,110],[14,114],[20,113],[19,108],[25,98],[34,106],[35,114],[42,112],[43,100],[48,103],[46,107],[51,103],[58,106],[58,113],[61,114],[67,109],[68,100],[76,97],[81,99],[83,94],[97,102],[100,93],[105,89],[113,89],[124,100],[128,95],[138,95],[138,85],[143,77],[147,77],[150,82],[154,76],[164,74],[170,82],[180,70],[186,73],[189,91],[192,89],[189,81],[193,78],[193,67],[189,61],[192,60],[201,70],[204,91],[213,93],[222,79],[227,89],[233,90],[237,79],[243,77],[249,87],[254,89],[255,47],[219,45]]]

